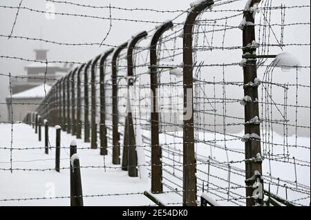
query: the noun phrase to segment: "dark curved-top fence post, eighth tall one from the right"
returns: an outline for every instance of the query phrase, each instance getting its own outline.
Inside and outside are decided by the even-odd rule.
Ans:
[[[88,120],[88,68],[92,61],[88,61],[84,69],[84,142],[90,142],[90,122]]]

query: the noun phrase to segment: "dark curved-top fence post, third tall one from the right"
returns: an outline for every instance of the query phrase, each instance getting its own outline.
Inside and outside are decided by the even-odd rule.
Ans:
[[[164,23],[153,34],[150,46],[150,88],[151,88],[151,192],[163,192],[162,149],[159,145],[159,114],[156,90],[158,88],[157,43],[161,35],[173,27],[171,21]]]

